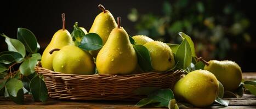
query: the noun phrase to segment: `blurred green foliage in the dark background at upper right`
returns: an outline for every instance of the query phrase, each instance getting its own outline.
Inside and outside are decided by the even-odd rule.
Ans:
[[[226,59],[229,51],[252,41],[250,21],[239,6],[240,1],[164,1],[160,15],[133,8],[127,17],[137,34],[179,44],[178,32],[184,32],[195,41],[197,56]]]

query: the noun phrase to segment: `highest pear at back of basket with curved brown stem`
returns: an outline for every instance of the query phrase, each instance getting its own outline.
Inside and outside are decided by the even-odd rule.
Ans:
[[[97,33],[100,38],[103,40],[103,45],[106,43],[109,38],[109,34],[113,28],[117,27],[115,18],[106,10],[103,5],[99,4],[98,7],[103,10],[98,16],[95,17],[92,27],[90,28],[89,33]],[[99,50],[90,51],[93,57],[96,57]]]

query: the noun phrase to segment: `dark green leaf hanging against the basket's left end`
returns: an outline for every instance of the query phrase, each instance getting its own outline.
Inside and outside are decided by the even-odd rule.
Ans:
[[[48,90],[44,81],[37,75],[30,81],[30,90],[34,100],[45,101],[48,99]]]

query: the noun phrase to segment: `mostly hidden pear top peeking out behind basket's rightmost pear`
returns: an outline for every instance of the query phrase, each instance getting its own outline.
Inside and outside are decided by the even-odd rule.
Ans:
[[[144,45],[150,41],[154,41],[153,39],[147,37],[146,35],[134,35],[132,37],[135,41],[135,44]]]

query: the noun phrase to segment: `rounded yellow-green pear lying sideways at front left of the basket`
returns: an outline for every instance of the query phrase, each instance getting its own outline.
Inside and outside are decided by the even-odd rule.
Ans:
[[[95,64],[89,52],[77,46],[67,45],[56,52],[53,69],[65,74],[92,75],[95,72]]]

